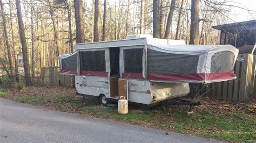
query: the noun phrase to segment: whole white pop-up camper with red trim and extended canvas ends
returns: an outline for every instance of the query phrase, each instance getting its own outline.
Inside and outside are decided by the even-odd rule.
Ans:
[[[147,60],[151,60],[156,65],[154,59],[152,60],[152,58],[150,59],[147,56],[147,49],[149,49],[149,51],[151,50],[149,54],[157,58],[159,56],[154,54],[158,54],[158,51],[172,55],[173,53],[171,52],[173,51],[174,54],[175,52],[181,52],[181,54],[178,53],[177,55],[186,54],[186,57],[188,55],[198,58],[197,60],[191,60],[196,61],[194,63],[196,65],[194,67],[195,69],[193,70],[192,67],[191,71],[200,72],[203,70],[199,69],[206,69],[204,66],[209,66],[209,63],[204,62],[204,59],[206,59],[206,52],[210,51],[209,49],[212,47],[203,48],[203,52],[197,52],[200,49],[197,48],[197,51],[192,51],[191,54],[180,49],[177,52],[177,50],[173,50],[173,47],[169,47],[171,45],[179,47],[183,47],[182,45],[186,46],[182,40],[156,39],[152,35],[128,35],[125,40],[76,44],[76,51],[74,53],[59,57],[61,73],[75,75],[78,94],[99,96],[102,104],[106,104],[110,100],[118,100],[120,96],[124,96],[129,102],[156,105],[162,101],[188,95],[190,92],[188,82],[210,82],[205,78],[205,75],[207,75],[205,73],[178,73],[180,75],[174,74],[175,76],[173,76],[173,74],[161,73],[164,70],[163,68],[166,67],[166,65],[163,66],[163,63],[161,63],[162,65],[160,67],[154,67],[154,65],[152,66],[152,64],[147,63]],[[154,52],[154,50],[158,50],[158,53]],[[223,48],[223,50],[229,51],[228,47]],[[221,50],[218,49],[217,52],[219,51]],[[236,52],[235,50],[233,51],[231,52]],[[200,55],[204,52],[206,53],[205,55]],[[232,58],[235,60],[236,56],[234,54]],[[184,56],[180,58],[182,59]],[[202,62],[199,62],[199,59]],[[162,62],[165,61],[162,60]],[[207,64],[204,65],[204,63]],[[166,61],[166,64],[170,63]],[[148,66],[150,67],[148,68]],[[171,66],[167,65],[167,68]],[[233,62],[231,63],[232,66]],[[181,70],[183,71],[183,69]],[[225,73],[226,75],[228,75],[228,78],[222,78],[222,81],[235,78],[232,73]],[[207,75],[207,77],[213,76]],[[218,78],[209,79],[220,81]]]

